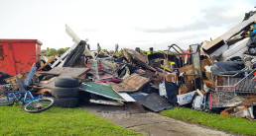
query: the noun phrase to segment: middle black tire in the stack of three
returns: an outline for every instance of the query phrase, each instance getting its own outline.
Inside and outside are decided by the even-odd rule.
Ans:
[[[56,98],[78,98],[78,88],[60,88],[55,87],[52,89],[52,96]]]

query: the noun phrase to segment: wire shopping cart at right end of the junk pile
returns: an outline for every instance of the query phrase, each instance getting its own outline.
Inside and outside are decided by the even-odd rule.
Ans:
[[[229,107],[240,102],[253,100],[256,97],[256,81],[253,73],[256,71],[244,68],[240,71],[212,71],[214,90],[209,93],[209,108]],[[237,78],[244,74],[243,78]]]

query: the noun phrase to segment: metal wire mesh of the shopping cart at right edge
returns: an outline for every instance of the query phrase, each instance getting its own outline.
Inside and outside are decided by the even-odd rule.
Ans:
[[[256,81],[253,77],[218,77],[215,90],[210,92],[211,107],[234,106],[239,102],[256,98]]]

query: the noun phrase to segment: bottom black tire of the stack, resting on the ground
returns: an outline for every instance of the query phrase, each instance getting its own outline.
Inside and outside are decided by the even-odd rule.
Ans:
[[[77,107],[79,105],[78,98],[54,98],[55,99],[55,106],[58,107]]]

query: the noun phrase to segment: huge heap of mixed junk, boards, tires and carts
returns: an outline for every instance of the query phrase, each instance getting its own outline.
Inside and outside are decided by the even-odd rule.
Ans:
[[[29,72],[10,76],[1,72],[1,89],[13,86],[17,77],[36,94],[55,98],[55,105],[79,104],[127,106],[136,103],[159,112],[175,106],[246,117],[256,116],[256,12],[211,41],[177,44],[149,55],[122,48],[121,55],[91,50],[65,26],[74,44]]]

